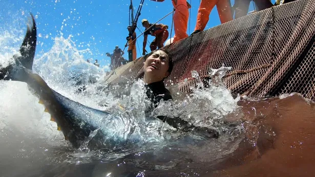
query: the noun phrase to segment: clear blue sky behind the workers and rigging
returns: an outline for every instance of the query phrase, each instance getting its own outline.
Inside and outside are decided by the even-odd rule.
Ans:
[[[190,24],[188,24],[187,29],[187,33],[190,34],[195,28],[200,1],[188,0],[188,2],[191,2],[192,5]],[[137,11],[139,3],[140,0],[133,0],[135,11]],[[233,5],[234,0],[231,3]],[[86,59],[98,59],[101,65],[105,65],[109,64],[109,57],[105,56],[106,52],[112,52],[116,45],[121,49],[124,48],[125,38],[128,36],[129,6],[130,0],[0,0],[0,7],[2,7],[0,24],[6,25],[12,20],[20,20],[19,25],[22,26],[21,28],[25,28],[28,12],[32,12],[36,16],[38,34],[43,36],[39,37],[38,41],[44,43],[43,46],[38,46],[36,54],[49,51],[53,45],[54,37],[60,36],[62,33],[65,38],[69,35],[73,36],[72,40],[75,41],[78,50],[87,48],[91,50],[92,54],[84,54]],[[165,0],[162,3],[145,0],[139,17],[139,24],[143,18],[155,23],[172,10],[171,0]],[[252,3],[249,11],[251,10],[253,10]],[[12,17],[16,15],[17,17]],[[172,14],[159,23],[171,27]],[[220,20],[215,7],[211,12],[206,29],[217,25],[220,25]],[[138,27],[143,30],[142,26],[139,25]],[[137,35],[141,34],[138,29],[136,33]],[[152,41],[154,37],[149,36],[148,39]],[[140,49],[142,49],[143,36],[139,37],[137,41]],[[146,50],[150,51],[148,46]],[[128,59],[127,49],[125,53],[124,57]],[[141,53],[137,46],[137,57],[140,57]]]

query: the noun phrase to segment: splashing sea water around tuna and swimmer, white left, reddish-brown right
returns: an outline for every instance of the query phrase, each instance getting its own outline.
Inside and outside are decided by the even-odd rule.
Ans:
[[[4,67],[17,53],[24,30],[2,31],[0,36],[0,63]],[[58,93],[108,110],[113,117],[124,120],[118,127],[106,128],[129,131],[136,127],[133,136],[141,137],[140,143],[96,151],[84,146],[73,149],[26,83],[0,81],[1,176],[313,174],[310,165],[315,159],[314,104],[301,96],[233,98],[221,82],[229,68],[212,70],[209,73],[217,77],[209,80],[211,87],[204,88],[199,82],[200,89],[193,89],[180,101],[162,102],[150,116],[179,117],[197,126],[216,129],[220,137],[208,138],[204,132],[179,134],[166,124],[145,124],[148,115],[144,110],[149,102],[144,100],[143,81],[126,85],[130,95],[98,90],[106,86],[102,82],[106,70],[87,63],[82,52],[86,51],[77,50],[71,36],[55,37],[51,50],[36,56],[33,71]],[[192,76],[199,79],[195,71]],[[89,87],[77,92],[82,85]],[[302,162],[304,165],[290,165]]]

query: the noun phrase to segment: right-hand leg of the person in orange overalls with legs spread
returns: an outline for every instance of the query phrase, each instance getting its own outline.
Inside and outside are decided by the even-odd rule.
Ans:
[[[220,17],[221,24],[224,24],[227,21],[233,20],[231,7],[228,1],[229,0],[219,0],[217,3],[217,9],[218,9],[218,14]]]

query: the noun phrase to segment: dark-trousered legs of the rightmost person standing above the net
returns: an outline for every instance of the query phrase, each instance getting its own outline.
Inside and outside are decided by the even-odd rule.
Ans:
[[[252,0],[235,0],[233,9],[235,11],[235,19],[247,15],[250,2]],[[268,9],[274,5],[269,0],[253,0],[257,11]]]

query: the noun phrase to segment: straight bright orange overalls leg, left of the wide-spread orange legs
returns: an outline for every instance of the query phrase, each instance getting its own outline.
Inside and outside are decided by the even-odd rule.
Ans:
[[[188,34],[186,32],[189,12],[186,0],[172,0],[172,3],[175,8],[173,18],[175,36],[173,42],[176,42],[178,40],[188,37]]]

